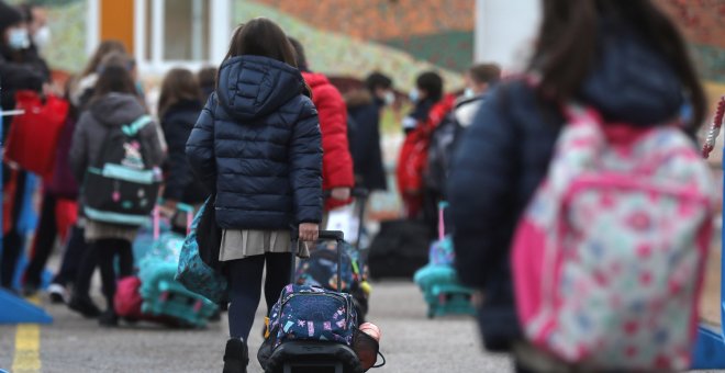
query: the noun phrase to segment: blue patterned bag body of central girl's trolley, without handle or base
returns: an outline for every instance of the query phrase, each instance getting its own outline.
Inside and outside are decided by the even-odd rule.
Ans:
[[[272,348],[288,340],[352,346],[357,327],[353,296],[317,286],[287,285],[269,315]]]

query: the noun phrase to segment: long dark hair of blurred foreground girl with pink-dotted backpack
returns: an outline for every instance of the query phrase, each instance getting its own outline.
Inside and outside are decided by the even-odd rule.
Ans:
[[[596,58],[598,27],[602,15],[626,21],[668,60],[692,105],[691,131],[703,123],[705,93],[684,41],[672,21],[650,0],[543,0],[544,19],[529,66],[542,75],[539,91],[548,98],[571,99]]]

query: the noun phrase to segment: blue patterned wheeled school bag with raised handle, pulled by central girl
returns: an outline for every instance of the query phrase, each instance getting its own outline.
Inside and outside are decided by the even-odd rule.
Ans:
[[[339,263],[343,233],[321,230],[319,237],[337,242]],[[337,268],[337,289],[342,289],[342,265]],[[294,270],[291,280],[294,280]],[[266,325],[265,341],[257,359],[267,373],[288,373],[297,369],[309,372],[362,372],[360,361],[350,348],[357,328],[357,314],[349,294],[290,284],[272,307]]]

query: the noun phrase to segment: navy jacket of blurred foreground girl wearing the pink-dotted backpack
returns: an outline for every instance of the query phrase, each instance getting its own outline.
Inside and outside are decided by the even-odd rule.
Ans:
[[[599,60],[577,100],[607,122],[651,126],[678,115],[682,88],[669,63],[623,27],[599,41]],[[502,84],[479,110],[454,159],[448,182],[460,280],[481,289],[480,327],[489,349],[521,337],[510,246],[517,221],[546,176],[565,123],[556,102],[523,81]]]

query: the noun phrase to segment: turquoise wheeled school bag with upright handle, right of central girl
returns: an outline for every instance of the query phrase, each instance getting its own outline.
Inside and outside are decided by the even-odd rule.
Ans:
[[[438,205],[438,240],[431,245],[430,262],[413,276],[428,305],[428,318],[477,314],[471,303],[475,291],[460,283],[454,268],[453,239],[445,234],[443,212],[446,206],[445,202]]]

